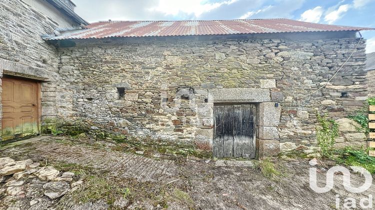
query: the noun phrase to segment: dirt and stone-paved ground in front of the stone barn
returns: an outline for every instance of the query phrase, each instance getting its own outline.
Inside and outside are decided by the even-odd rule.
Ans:
[[[31,158],[41,165],[72,171],[75,180],[83,180],[82,190],[38,209],[336,209],[336,194],[339,209],[345,209],[342,205],[347,197],[354,198],[356,209],[361,209],[359,200],[375,195],[372,186],[362,193],[346,191],[342,174],[336,174],[332,190],[316,193],[309,187],[312,166],[309,159],[301,158],[271,159],[280,174],[269,178],[255,160],[214,160],[185,148],[67,136],[0,148],[0,157],[5,156]],[[325,171],[333,164],[323,161],[317,165],[319,186],[324,186]],[[351,177],[352,186],[364,182],[359,174]],[[0,195],[0,208],[4,209],[22,209],[21,203],[25,203],[3,201],[4,195]]]

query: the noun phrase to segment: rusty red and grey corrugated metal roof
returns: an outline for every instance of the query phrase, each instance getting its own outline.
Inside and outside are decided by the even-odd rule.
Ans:
[[[374,28],[317,24],[291,19],[181,20],[181,21],[102,21],[83,29],[46,36],[46,40],[105,37],[177,35],[220,35],[243,33],[370,30]]]

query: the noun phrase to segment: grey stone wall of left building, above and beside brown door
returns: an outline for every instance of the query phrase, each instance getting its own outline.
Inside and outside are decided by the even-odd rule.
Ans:
[[[40,36],[53,34],[57,27],[72,25],[73,22],[44,0],[0,1],[0,77],[8,74],[43,81],[41,112],[44,118],[56,117],[58,53]]]

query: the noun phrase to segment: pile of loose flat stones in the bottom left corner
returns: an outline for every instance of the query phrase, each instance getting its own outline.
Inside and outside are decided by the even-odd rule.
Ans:
[[[40,167],[31,159],[0,158],[0,209],[41,209],[80,187],[74,173],[52,166]],[[6,209],[6,208],[5,208]]]

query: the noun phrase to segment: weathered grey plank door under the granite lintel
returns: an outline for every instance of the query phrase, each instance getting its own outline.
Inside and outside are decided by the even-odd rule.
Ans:
[[[254,104],[215,105],[213,156],[255,158]]]

